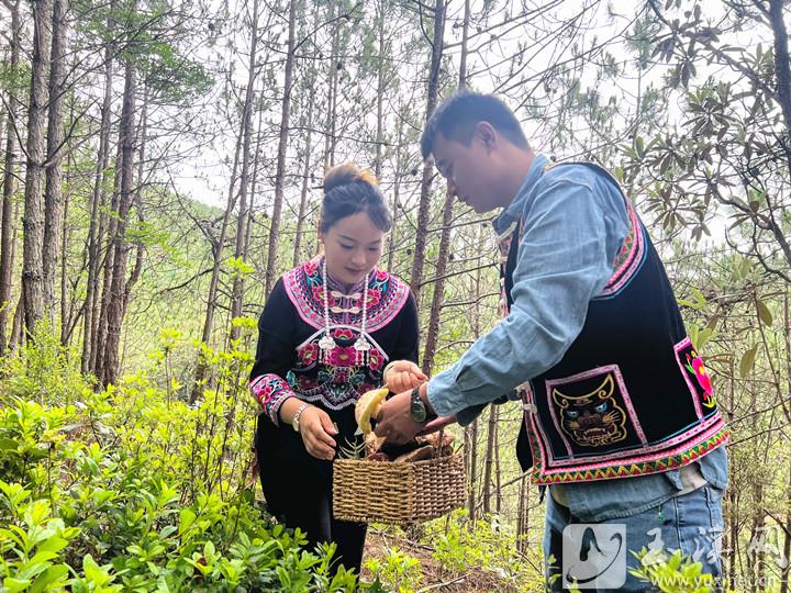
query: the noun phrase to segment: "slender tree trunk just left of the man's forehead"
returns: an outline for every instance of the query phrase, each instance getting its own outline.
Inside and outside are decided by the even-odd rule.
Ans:
[[[439,66],[442,65],[444,33],[445,0],[436,0],[434,9],[434,41],[432,45],[431,70],[426,93],[426,122],[434,112],[439,92]],[[431,209],[431,184],[433,177],[432,164],[425,163],[423,165],[423,178],[421,180],[420,206],[417,209],[417,232],[415,236],[415,250],[414,259],[412,261],[412,276],[410,280],[412,292],[419,305],[423,283],[423,267],[425,266],[425,247],[428,234],[428,211]]]

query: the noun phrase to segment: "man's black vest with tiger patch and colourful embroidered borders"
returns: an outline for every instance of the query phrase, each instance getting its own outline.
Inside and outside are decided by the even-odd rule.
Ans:
[[[598,165],[575,165],[592,167],[617,186]],[[560,362],[520,390],[525,415],[517,456],[538,484],[667,471],[728,436],[661,260],[624,200],[631,228],[580,335]],[[501,258],[506,307],[521,226]]]

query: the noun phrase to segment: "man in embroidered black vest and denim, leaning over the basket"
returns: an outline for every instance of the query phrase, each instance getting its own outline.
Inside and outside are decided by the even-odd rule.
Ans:
[[[472,92],[434,112],[422,152],[476,212],[503,209],[494,228],[508,246],[508,314],[455,366],[390,399],[377,434],[405,440],[454,417],[466,425],[515,390],[520,461],[550,493],[553,590],[569,577],[556,577],[571,561],[562,532],[582,523],[623,524],[628,550],[681,549],[718,578],[727,430],[619,183],[598,166],[534,153],[505,103]],[[630,574],[617,590],[645,588]]]

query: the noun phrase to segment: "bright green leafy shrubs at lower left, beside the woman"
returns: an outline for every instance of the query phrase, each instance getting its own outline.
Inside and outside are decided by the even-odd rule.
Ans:
[[[249,355],[204,356],[203,398],[188,405],[166,363],[177,338],[98,392],[47,336],[2,362],[0,589],[354,591],[334,546],[304,549],[245,484]]]

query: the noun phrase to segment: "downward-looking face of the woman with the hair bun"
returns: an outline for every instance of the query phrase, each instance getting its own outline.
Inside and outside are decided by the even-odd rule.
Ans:
[[[374,269],[385,244],[385,232],[366,212],[338,220],[328,230],[320,232],[319,237],[324,244],[327,273],[347,288]]]

